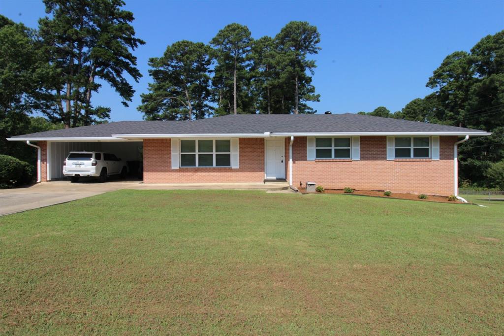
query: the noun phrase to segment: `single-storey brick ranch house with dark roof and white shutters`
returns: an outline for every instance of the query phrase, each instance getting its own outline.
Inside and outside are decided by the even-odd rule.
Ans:
[[[124,121],[9,138],[38,147],[38,181],[71,150],[143,160],[144,183],[313,181],[325,188],[457,195],[457,144],[484,131],[355,114]],[[32,143],[33,142],[33,143]]]

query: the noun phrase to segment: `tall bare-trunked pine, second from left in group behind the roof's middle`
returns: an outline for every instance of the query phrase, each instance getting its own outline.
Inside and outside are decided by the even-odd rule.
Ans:
[[[252,42],[248,28],[238,23],[227,25],[210,41],[215,48],[217,61],[212,83],[215,91],[214,100],[218,103],[218,114],[230,113],[229,92],[232,92],[233,114],[238,113],[238,103],[241,105],[242,113],[250,111],[248,96],[250,78],[247,70],[250,67],[248,58]]]

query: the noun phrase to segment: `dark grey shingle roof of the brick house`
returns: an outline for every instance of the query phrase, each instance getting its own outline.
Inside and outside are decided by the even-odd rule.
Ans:
[[[25,134],[16,138],[111,137],[118,134],[415,133],[484,131],[356,114],[229,115],[197,121],[122,121]]]

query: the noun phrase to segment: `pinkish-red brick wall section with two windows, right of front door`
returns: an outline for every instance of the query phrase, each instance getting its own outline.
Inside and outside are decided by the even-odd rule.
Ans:
[[[451,195],[453,145],[457,137],[440,137],[439,160],[387,160],[386,137],[360,137],[360,161],[306,160],[306,137],[293,144],[292,184],[307,181],[325,188]],[[287,144],[288,153],[288,144]],[[289,176],[287,174],[287,176]]]

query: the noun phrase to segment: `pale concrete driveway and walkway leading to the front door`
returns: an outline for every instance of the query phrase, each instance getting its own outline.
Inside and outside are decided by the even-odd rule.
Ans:
[[[77,199],[103,194],[120,189],[137,190],[265,190],[288,189],[286,182],[273,183],[191,183],[191,184],[144,184],[142,181],[110,181],[106,183],[51,181],[38,183],[26,188],[0,190],[0,216],[65,203]]]

